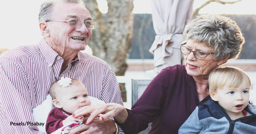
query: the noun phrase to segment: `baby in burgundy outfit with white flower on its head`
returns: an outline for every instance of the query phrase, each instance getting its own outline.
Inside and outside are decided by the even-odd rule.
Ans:
[[[51,134],[59,128],[62,132],[68,132],[75,125],[84,122],[84,118],[74,118],[72,113],[84,106],[89,106],[91,101],[88,97],[85,85],[78,80],[61,78],[50,86],[49,94],[52,104],[56,107],[49,112],[46,122],[46,132]]]

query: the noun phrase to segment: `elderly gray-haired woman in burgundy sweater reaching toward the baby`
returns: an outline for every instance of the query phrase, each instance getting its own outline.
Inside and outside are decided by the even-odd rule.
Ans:
[[[238,57],[244,37],[238,25],[220,15],[200,15],[185,26],[181,45],[185,64],[163,69],[146,87],[132,110],[110,103],[85,107],[73,116],[91,113],[87,124],[99,113],[100,120],[114,117],[126,134],[146,129],[149,134],[177,134],[197,105],[210,97],[208,76],[229,59]]]

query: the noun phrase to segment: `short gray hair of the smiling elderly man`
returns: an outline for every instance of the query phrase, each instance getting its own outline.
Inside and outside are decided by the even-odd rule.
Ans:
[[[51,11],[53,9],[54,2],[56,1],[79,3],[85,6],[85,3],[83,0],[48,0],[41,5],[41,8],[38,14],[39,22],[49,21],[51,19]]]

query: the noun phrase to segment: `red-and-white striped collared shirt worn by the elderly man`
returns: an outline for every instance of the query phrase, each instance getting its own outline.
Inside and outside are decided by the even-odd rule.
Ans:
[[[37,134],[32,110],[40,105],[56,79],[80,80],[89,96],[122,104],[115,73],[101,59],[79,52],[61,73],[63,59],[45,39],[0,55],[0,134]]]

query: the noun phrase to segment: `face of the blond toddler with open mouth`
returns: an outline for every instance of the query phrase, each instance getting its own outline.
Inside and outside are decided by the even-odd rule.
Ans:
[[[237,88],[224,86],[217,89],[214,95],[215,101],[219,102],[219,105],[226,110],[230,117],[241,114],[241,111],[249,103],[250,85],[246,80]]]

